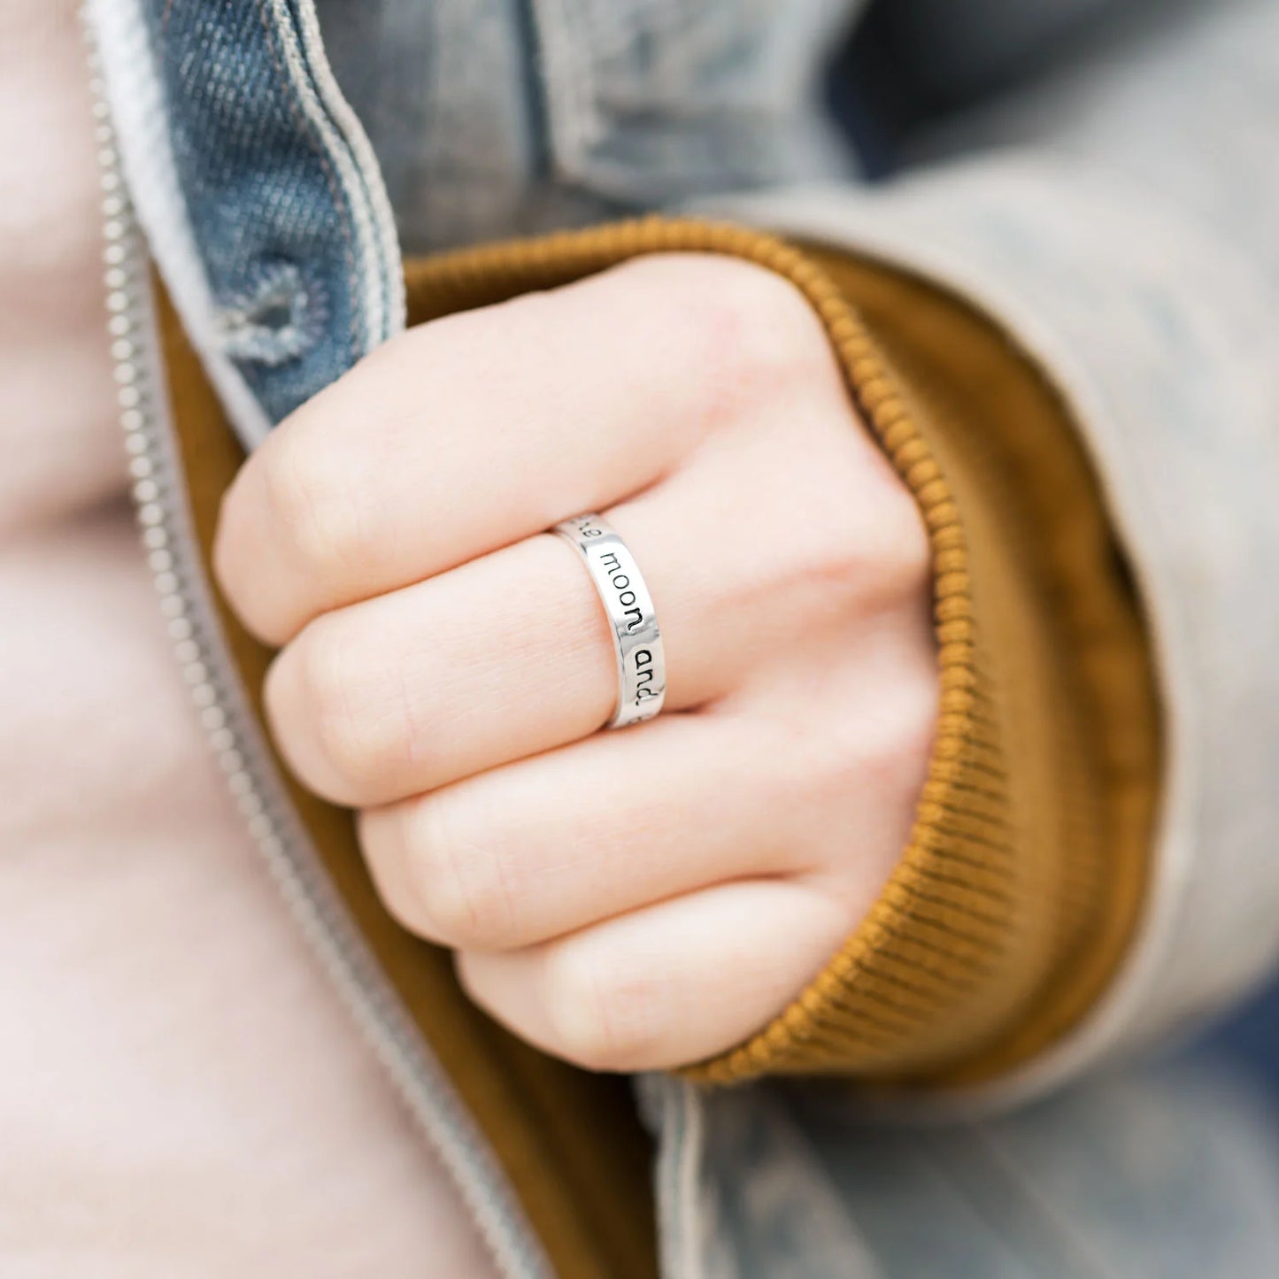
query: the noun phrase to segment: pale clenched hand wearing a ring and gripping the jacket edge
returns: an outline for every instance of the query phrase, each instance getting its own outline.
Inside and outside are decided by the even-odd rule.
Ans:
[[[599,732],[604,609],[545,530],[609,519],[666,710]],[[779,1013],[904,847],[936,671],[929,549],[788,283],[641,258],[389,343],[283,423],[216,545],[281,645],[280,749],[359,810],[388,908],[471,995],[593,1069]]]

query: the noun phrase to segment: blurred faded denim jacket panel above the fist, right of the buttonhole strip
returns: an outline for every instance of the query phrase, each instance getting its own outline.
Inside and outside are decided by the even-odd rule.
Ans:
[[[865,0],[317,0],[412,252],[848,171],[820,109]]]

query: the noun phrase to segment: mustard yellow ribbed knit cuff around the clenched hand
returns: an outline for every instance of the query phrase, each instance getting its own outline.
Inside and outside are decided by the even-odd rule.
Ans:
[[[1096,476],[1016,343],[848,255],[654,217],[445,255],[409,284],[427,320],[678,251],[776,271],[820,316],[927,522],[941,680],[927,784],[881,898],[792,1007],[686,1073],[998,1073],[1096,1001],[1142,900],[1157,711]]]

